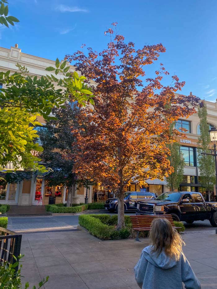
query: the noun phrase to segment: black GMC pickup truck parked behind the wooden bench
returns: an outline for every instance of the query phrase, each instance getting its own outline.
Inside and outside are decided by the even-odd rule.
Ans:
[[[175,221],[209,220],[213,227],[217,227],[217,202],[205,202],[203,196],[197,192],[166,192],[153,201],[139,202],[136,215],[164,215],[171,214]]]

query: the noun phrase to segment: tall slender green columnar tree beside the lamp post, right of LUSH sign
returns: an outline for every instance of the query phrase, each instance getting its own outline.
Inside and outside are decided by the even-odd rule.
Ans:
[[[200,137],[198,138],[197,163],[200,170],[201,185],[206,189],[210,201],[215,185],[214,157],[212,155],[201,155],[201,152],[210,153],[211,148],[206,103],[198,109],[198,116],[200,118]]]

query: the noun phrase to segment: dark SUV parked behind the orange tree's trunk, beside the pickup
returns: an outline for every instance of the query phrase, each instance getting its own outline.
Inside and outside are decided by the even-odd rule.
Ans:
[[[126,192],[124,193],[125,211],[135,211],[137,204],[141,201],[151,201],[155,199],[155,194],[150,192]],[[104,208],[109,212],[117,212],[117,198],[107,199]]]

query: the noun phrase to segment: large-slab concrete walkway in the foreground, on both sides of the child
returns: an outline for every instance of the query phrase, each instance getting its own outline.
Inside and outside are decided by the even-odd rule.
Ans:
[[[215,231],[183,234],[183,251],[203,289],[216,288]],[[23,283],[50,276],[45,289],[138,289],[133,268],[148,239],[100,241],[84,231],[24,234]],[[159,288],[160,289],[160,288]]]

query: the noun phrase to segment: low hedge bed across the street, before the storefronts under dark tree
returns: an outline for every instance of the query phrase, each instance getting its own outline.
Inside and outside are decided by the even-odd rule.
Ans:
[[[46,205],[46,211],[51,213],[80,213],[86,210],[96,210],[104,209],[104,204],[102,203],[91,203],[91,204],[72,204],[72,207],[66,207],[66,204],[55,204]]]

